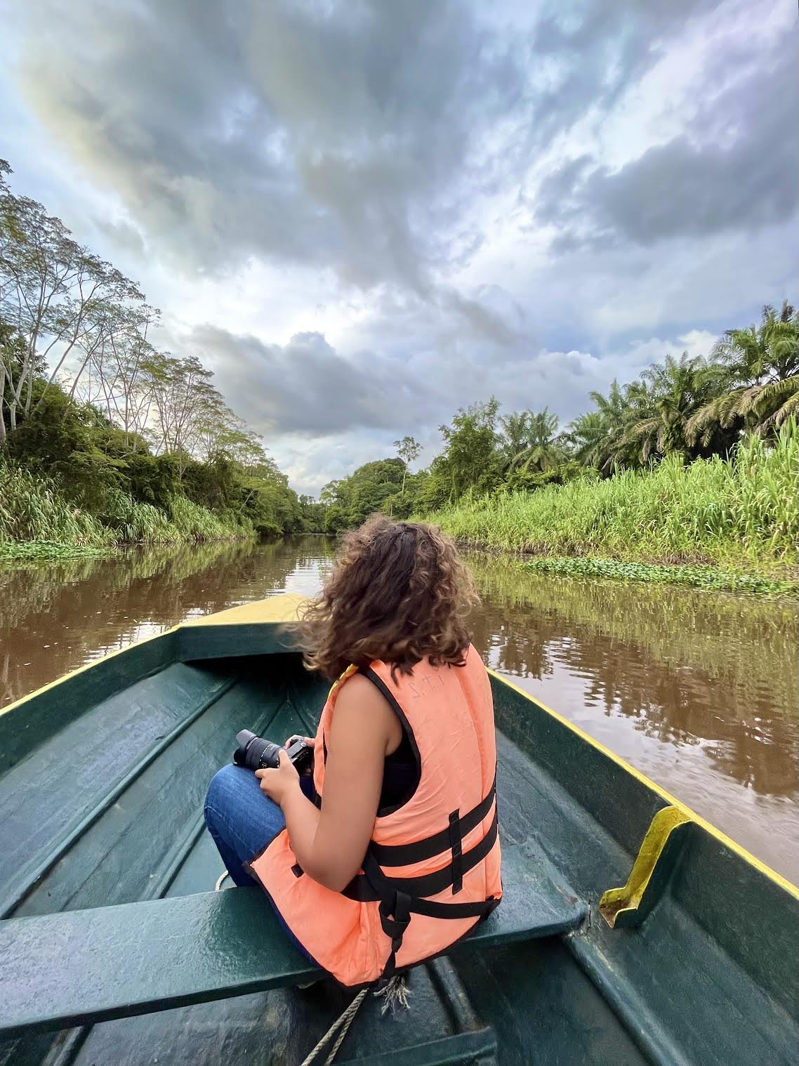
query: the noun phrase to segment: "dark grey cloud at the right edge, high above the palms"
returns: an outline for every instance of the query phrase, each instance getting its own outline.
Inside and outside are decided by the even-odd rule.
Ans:
[[[725,54],[725,65],[737,56]],[[722,70],[705,71],[708,85]],[[617,172],[588,156],[541,183],[537,217],[555,224],[556,246],[582,241],[651,245],[788,220],[799,203],[799,98],[795,42],[757,54],[756,64],[698,101],[684,131]]]

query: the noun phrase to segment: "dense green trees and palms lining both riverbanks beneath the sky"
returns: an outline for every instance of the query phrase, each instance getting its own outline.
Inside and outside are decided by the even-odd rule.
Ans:
[[[411,470],[421,447],[405,436],[395,455],[328,483],[315,501],[290,488],[194,353],[156,346],[160,312],[135,282],[15,195],[10,173],[0,161],[0,547],[337,534],[382,511],[440,516],[475,543],[549,550],[528,534],[557,512],[560,548],[578,554],[568,529],[577,511],[587,523],[577,539],[593,536],[591,507],[606,516],[613,496],[623,511],[640,495],[636,472],[659,466],[651,486],[679,483],[686,505],[692,486],[701,539],[727,513],[724,478],[737,464],[760,480],[736,482],[728,537],[746,538],[738,530],[756,521],[759,537],[780,531],[784,550],[799,411],[799,314],[788,303],[727,330],[705,356],[668,356],[591,393],[592,409],[568,426],[548,409],[501,414],[490,398],[440,426],[443,447],[426,469]],[[601,489],[606,482],[615,487]],[[623,537],[608,533],[604,547],[620,552]]]

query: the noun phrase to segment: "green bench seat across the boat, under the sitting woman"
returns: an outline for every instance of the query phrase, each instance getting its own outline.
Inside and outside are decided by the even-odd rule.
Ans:
[[[576,928],[585,904],[529,845],[503,851],[502,905],[451,954]],[[313,981],[258,888],[0,922],[0,1032],[167,1011]]]

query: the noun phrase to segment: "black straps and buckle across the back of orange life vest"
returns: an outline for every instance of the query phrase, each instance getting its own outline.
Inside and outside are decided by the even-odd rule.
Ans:
[[[441,833],[411,844],[370,843],[362,862],[363,873],[352,879],[343,890],[343,894],[361,903],[379,902],[380,925],[391,939],[391,952],[382,972],[384,978],[390,978],[394,973],[396,953],[402,947],[411,915],[442,919],[482,919],[487,918],[500,902],[494,898],[474,903],[443,903],[426,899],[438,895],[447,888],[452,888],[453,894],[459,892],[463,887],[463,874],[482,862],[494,846],[499,833],[495,808],[485,837],[474,847],[470,847],[466,853],[462,852],[463,837],[487,817],[494,797],[495,781],[488,795],[463,818],[459,817],[458,811],[454,811],[450,815],[449,826]],[[390,877],[381,869],[384,866],[410,865],[446,850],[451,850],[452,859],[434,873],[419,877]],[[413,857],[408,857],[409,855]]]

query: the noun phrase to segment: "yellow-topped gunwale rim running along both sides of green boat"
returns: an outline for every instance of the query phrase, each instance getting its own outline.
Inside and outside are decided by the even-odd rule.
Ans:
[[[296,593],[288,593],[278,596],[272,596],[263,600],[250,601],[248,603],[243,603],[238,607],[228,608],[224,611],[201,615],[197,618],[187,618],[183,621],[178,623],[175,626],[169,627],[168,629],[163,630],[160,633],[152,633],[149,636],[144,636],[138,641],[133,641],[126,647],[115,648],[113,651],[109,651],[105,655],[98,657],[97,659],[93,659],[88,663],[84,663],[82,666],[78,666],[74,671],[69,671],[67,674],[62,675],[62,677],[59,677],[53,681],[48,681],[47,684],[44,684],[40,688],[34,690],[33,692],[28,693],[28,695],[22,696],[20,699],[14,700],[6,707],[0,708],[0,717],[4,716],[10,711],[18,710],[26,704],[32,701],[33,699],[38,698],[39,696],[44,695],[47,692],[50,692],[58,685],[64,684],[65,682],[71,680],[72,678],[81,674],[84,674],[86,671],[92,669],[93,667],[99,665],[100,663],[104,663],[110,659],[116,658],[117,656],[125,655],[125,652],[130,651],[132,648],[141,647],[143,644],[148,644],[153,641],[163,640],[164,637],[169,636],[172,634],[179,634],[182,631],[202,626],[209,626],[211,624],[219,628],[247,625],[247,626],[257,626],[259,628],[263,627],[267,629],[272,627],[290,625],[292,621],[296,620],[297,609],[299,604],[304,602],[306,599],[307,599],[306,597],[299,596]],[[268,613],[275,615],[282,614],[282,617],[280,616],[273,618],[263,617],[263,608],[265,605],[278,604],[278,603],[282,608],[284,608],[284,610],[280,611],[278,609],[275,611],[271,611]],[[260,612],[260,617],[258,617],[259,612]],[[224,615],[227,615],[227,617],[222,617]],[[256,617],[254,617],[254,615],[256,615]],[[747,862],[750,867],[753,867],[759,873],[768,877],[769,881],[773,882],[783,891],[794,897],[794,899],[799,900],[799,886],[793,884],[782,874],[778,873],[776,870],[769,867],[762,859],[759,859],[755,855],[753,855],[746,847],[744,847],[743,844],[737,843],[737,841],[733,840],[732,837],[729,837],[725,833],[723,833],[721,829],[715,826],[712,822],[708,822],[707,819],[697,813],[697,811],[695,811],[687,804],[683,803],[681,800],[679,800],[676,796],[670,793],[663,786],[658,785],[651,777],[648,777],[640,770],[637,770],[634,765],[629,763],[621,756],[617,755],[609,747],[606,747],[601,741],[596,740],[596,738],[591,737],[590,733],[586,732],[580,726],[575,725],[565,715],[553,710],[542,700],[531,695],[528,692],[525,692],[524,689],[522,689],[516,682],[511,681],[510,678],[502,674],[499,674],[495,669],[491,668],[490,666],[487,666],[486,669],[489,676],[492,677],[494,680],[496,680],[500,684],[503,684],[506,688],[510,689],[512,692],[517,693],[523,699],[533,704],[534,707],[537,707],[539,710],[543,711],[559,725],[564,726],[565,728],[569,729],[572,733],[576,734],[581,740],[585,741],[592,748],[604,755],[618,768],[625,771],[639,784],[645,786],[645,788],[649,789],[651,792],[654,792],[657,796],[664,800],[666,804],[676,807],[683,814],[687,817],[689,821],[694,822],[701,829],[704,829],[705,833],[710,834],[719,843],[721,843],[730,851],[732,851],[735,855],[738,856],[738,858],[744,859],[745,862]]]

